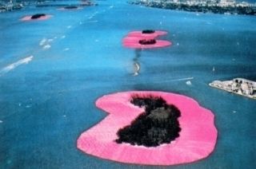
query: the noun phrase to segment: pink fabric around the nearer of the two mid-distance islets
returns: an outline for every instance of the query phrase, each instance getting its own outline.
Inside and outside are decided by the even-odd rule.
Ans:
[[[161,48],[171,45],[170,41],[156,40],[155,44],[142,45],[139,43],[142,39],[147,39],[149,37],[125,37],[122,40],[122,45],[127,48],[135,49],[150,49],[150,48]]]

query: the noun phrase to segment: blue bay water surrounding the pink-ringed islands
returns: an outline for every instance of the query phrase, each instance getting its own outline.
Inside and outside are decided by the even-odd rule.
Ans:
[[[256,81],[256,18],[96,2],[82,10],[29,6],[0,14],[0,168],[147,168],[76,148],[78,136],[106,116],[94,101],[130,90],[179,93],[214,112],[214,152],[171,168],[254,168],[255,100],[208,84]],[[53,17],[19,20],[36,13]],[[122,47],[122,37],[138,29],[166,30],[161,38],[173,45],[137,52]],[[137,77],[134,59],[141,65]]]

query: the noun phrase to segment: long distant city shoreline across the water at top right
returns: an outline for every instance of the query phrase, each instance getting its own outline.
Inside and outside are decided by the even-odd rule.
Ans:
[[[188,12],[214,13],[214,14],[246,14],[256,15],[256,6],[250,3],[234,4],[205,4],[189,2],[163,2],[135,0],[128,2],[133,5],[161,8],[166,10],[183,10]]]

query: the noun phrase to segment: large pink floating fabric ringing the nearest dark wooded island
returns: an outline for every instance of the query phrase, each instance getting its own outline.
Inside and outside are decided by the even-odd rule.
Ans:
[[[174,104],[181,112],[178,118],[182,128],[180,136],[158,147],[116,143],[118,129],[129,125],[144,112],[130,103],[134,94],[161,96],[167,104]],[[79,136],[77,147],[87,154],[122,163],[173,165],[206,158],[214,150],[217,140],[214,114],[187,96],[169,92],[118,92],[102,96],[96,101],[96,106],[109,115]]]

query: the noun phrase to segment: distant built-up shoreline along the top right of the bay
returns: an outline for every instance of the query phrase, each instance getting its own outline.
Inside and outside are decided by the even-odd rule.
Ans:
[[[256,14],[256,4],[235,0],[132,0],[134,5],[214,14]]]

